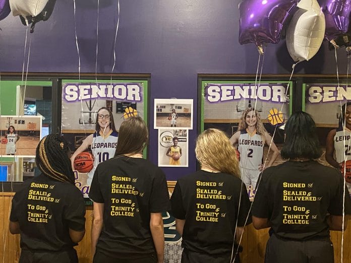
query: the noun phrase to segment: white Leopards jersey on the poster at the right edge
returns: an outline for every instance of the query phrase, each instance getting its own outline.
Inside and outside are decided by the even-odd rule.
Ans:
[[[341,163],[351,159],[350,145],[351,131],[345,128],[345,133],[341,129],[337,129],[334,136],[335,161]]]

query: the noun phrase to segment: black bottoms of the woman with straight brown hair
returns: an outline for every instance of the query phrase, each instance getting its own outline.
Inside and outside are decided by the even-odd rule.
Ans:
[[[111,257],[102,253],[98,248],[96,248],[93,263],[156,263],[157,256],[156,254],[148,254],[143,257],[135,258],[135,254],[131,255],[131,258],[126,258],[124,255],[123,258],[118,257],[118,252],[115,256]]]

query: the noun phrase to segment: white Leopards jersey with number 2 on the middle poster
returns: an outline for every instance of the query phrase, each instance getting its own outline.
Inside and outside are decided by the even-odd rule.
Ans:
[[[246,130],[240,131],[238,151],[240,166],[249,170],[258,170],[263,161],[263,141],[258,134],[250,136]]]

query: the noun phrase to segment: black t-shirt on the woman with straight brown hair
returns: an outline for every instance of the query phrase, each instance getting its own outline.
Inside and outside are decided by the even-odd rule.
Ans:
[[[150,213],[169,209],[167,182],[160,168],[126,156],[100,163],[89,198],[104,203],[103,228],[96,245],[102,253],[120,257],[155,253]]]

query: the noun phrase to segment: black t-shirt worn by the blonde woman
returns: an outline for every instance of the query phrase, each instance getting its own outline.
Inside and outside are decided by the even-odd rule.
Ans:
[[[178,179],[171,196],[171,214],[185,219],[182,246],[211,255],[231,253],[237,219],[243,227],[250,206],[241,179],[203,170]]]

